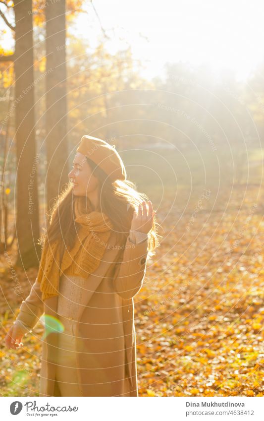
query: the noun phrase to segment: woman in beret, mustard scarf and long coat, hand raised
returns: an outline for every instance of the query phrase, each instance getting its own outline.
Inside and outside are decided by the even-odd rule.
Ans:
[[[156,212],[101,139],[82,137],[68,176],[6,346],[41,319],[40,396],[138,396],[133,297],[159,245]]]

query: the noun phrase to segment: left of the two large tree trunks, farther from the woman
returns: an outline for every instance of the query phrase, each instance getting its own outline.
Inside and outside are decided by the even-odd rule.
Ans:
[[[39,200],[34,116],[32,1],[14,0],[15,12],[15,132],[17,157],[16,264],[39,264]]]

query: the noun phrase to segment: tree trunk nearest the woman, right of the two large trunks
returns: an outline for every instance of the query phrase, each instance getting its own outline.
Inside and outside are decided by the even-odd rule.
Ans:
[[[65,0],[49,0],[46,10],[47,206],[68,181]]]

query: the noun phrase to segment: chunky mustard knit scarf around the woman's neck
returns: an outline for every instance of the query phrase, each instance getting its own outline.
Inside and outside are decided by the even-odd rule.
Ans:
[[[112,223],[102,212],[86,212],[83,198],[76,197],[74,203],[76,240],[71,249],[65,247],[61,264],[59,263],[61,241],[56,240],[50,244],[46,239],[37,276],[43,301],[58,295],[59,278],[62,273],[74,273],[88,278],[102,260],[113,228]]]

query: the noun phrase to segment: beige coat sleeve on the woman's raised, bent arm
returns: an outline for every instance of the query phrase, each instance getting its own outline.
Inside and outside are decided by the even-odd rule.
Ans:
[[[129,236],[125,251],[117,261],[114,291],[124,300],[129,300],[140,291],[146,273],[148,241],[134,244]]]

